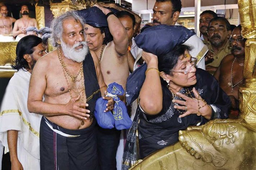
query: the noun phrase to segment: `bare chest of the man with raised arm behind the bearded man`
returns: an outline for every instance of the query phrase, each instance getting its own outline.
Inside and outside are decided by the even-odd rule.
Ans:
[[[99,56],[98,56],[99,58]],[[100,64],[104,81],[107,85],[116,82],[126,89],[126,81],[129,76],[127,54],[119,56],[116,53],[114,42],[110,42],[105,48]]]

